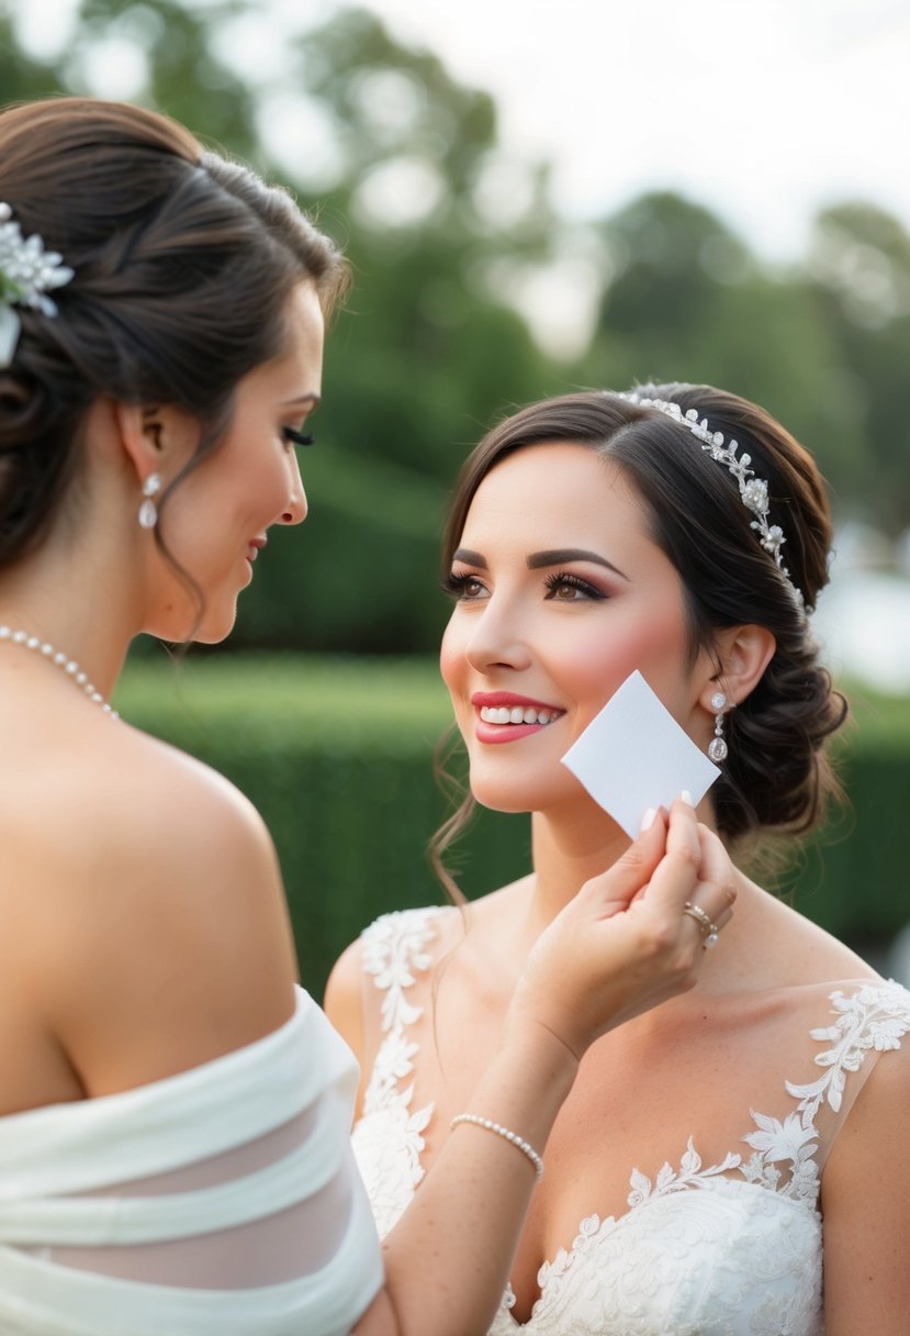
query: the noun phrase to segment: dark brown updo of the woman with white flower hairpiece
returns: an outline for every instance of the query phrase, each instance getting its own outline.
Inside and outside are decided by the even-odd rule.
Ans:
[[[238,382],[280,354],[294,285],[311,278],[328,311],[346,267],[284,190],[121,103],[59,98],[0,114],[0,200],[23,238],[39,235],[73,270],[53,293],[56,317],[16,309],[19,342],[0,369],[3,568],[57,513],[95,398],[197,417],[192,468],[230,425]]]

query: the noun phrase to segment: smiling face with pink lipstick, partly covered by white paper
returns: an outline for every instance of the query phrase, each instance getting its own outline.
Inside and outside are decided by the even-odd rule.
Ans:
[[[698,696],[711,668],[693,657],[679,574],[610,460],[547,444],[496,464],[471,502],[451,585],[442,673],[483,804],[583,800],[560,758],[634,669],[703,740]]]

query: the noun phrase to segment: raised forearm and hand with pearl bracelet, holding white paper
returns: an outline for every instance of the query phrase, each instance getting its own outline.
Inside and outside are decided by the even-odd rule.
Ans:
[[[726,922],[726,852],[675,803],[670,827],[658,819],[539,939],[466,1109],[543,1150],[588,1045],[694,983],[702,938],[682,911],[697,888]],[[503,1137],[459,1126],[384,1241],[386,1287],[355,1336],[483,1336],[534,1181],[531,1161]]]

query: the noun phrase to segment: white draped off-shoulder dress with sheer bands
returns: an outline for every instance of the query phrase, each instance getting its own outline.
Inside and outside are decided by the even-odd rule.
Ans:
[[[213,1062],[0,1118],[3,1336],[346,1336],[382,1284],[355,1090],[299,989]]]

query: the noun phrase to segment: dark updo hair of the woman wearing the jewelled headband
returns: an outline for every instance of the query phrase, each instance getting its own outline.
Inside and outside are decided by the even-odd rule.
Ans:
[[[690,426],[639,398],[675,403],[683,415],[694,409],[710,433],[738,442],[739,460],[751,457],[754,476],[767,484],[769,524],[786,540],[781,560],[789,578],[750,526],[755,514],[743,504],[737,477]],[[710,798],[729,842],[759,831],[810,830],[837,791],[823,743],[847,708],[818,661],[807,616],[827,582],[831,542],[825,486],[811,456],[763,409],[706,385],[648,385],[630,398],[583,393],[534,403],[494,428],[467,460],[443,541],[446,574],[483,478],[515,450],[543,442],[602,454],[643,498],[651,537],[685,588],[693,660],[701,648],[717,657],[717,633],[729,627],[758,624],[774,635],[777,649],[761,681],[725,715],[729,755]],[[558,474],[552,488],[559,488]]]

